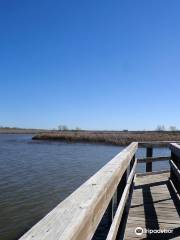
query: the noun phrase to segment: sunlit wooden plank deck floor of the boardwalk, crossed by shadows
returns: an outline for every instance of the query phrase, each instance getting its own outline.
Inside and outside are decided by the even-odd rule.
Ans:
[[[136,176],[134,182],[124,239],[180,239],[180,201],[169,173]],[[172,233],[137,235],[137,227],[172,230]]]

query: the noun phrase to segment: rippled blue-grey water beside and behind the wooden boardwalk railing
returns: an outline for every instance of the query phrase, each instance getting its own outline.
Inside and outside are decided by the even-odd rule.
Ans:
[[[31,137],[0,134],[0,240],[17,239],[123,149]],[[144,154],[138,151],[138,156]],[[155,154],[169,155],[169,151],[157,149]],[[167,162],[154,165],[168,166]]]

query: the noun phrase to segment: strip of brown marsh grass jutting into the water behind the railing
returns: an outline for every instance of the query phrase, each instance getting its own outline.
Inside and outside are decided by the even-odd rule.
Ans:
[[[125,146],[133,141],[180,141],[180,131],[51,131],[38,133],[33,139]]]

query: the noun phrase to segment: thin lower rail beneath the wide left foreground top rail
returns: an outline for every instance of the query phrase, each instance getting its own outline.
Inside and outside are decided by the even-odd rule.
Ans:
[[[131,173],[128,177],[126,187],[123,191],[119,206],[117,208],[115,217],[113,219],[113,222],[112,222],[112,225],[110,227],[110,230],[109,230],[109,233],[108,233],[108,236],[107,236],[106,240],[115,240],[116,239],[118,229],[119,229],[119,225],[120,225],[121,218],[122,218],[122,214],[123,214],[123,211],[124,211],[124,207],[126,205],[126,201],[127,201],[128,195],[129,195],[129,190],[130,190],[130,187],[131,187],[131,183],[133,181],[133,178],[134,178],[134,175],[135,175],[135,172],[136,172],[136,165],[137,165],[137,159],[135,160],[133,168],[131,170]]]

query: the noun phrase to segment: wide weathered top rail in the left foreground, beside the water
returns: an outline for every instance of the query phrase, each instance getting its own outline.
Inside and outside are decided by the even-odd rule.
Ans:
[[[137,148],[131,143],[20,240],[90,240]]]

